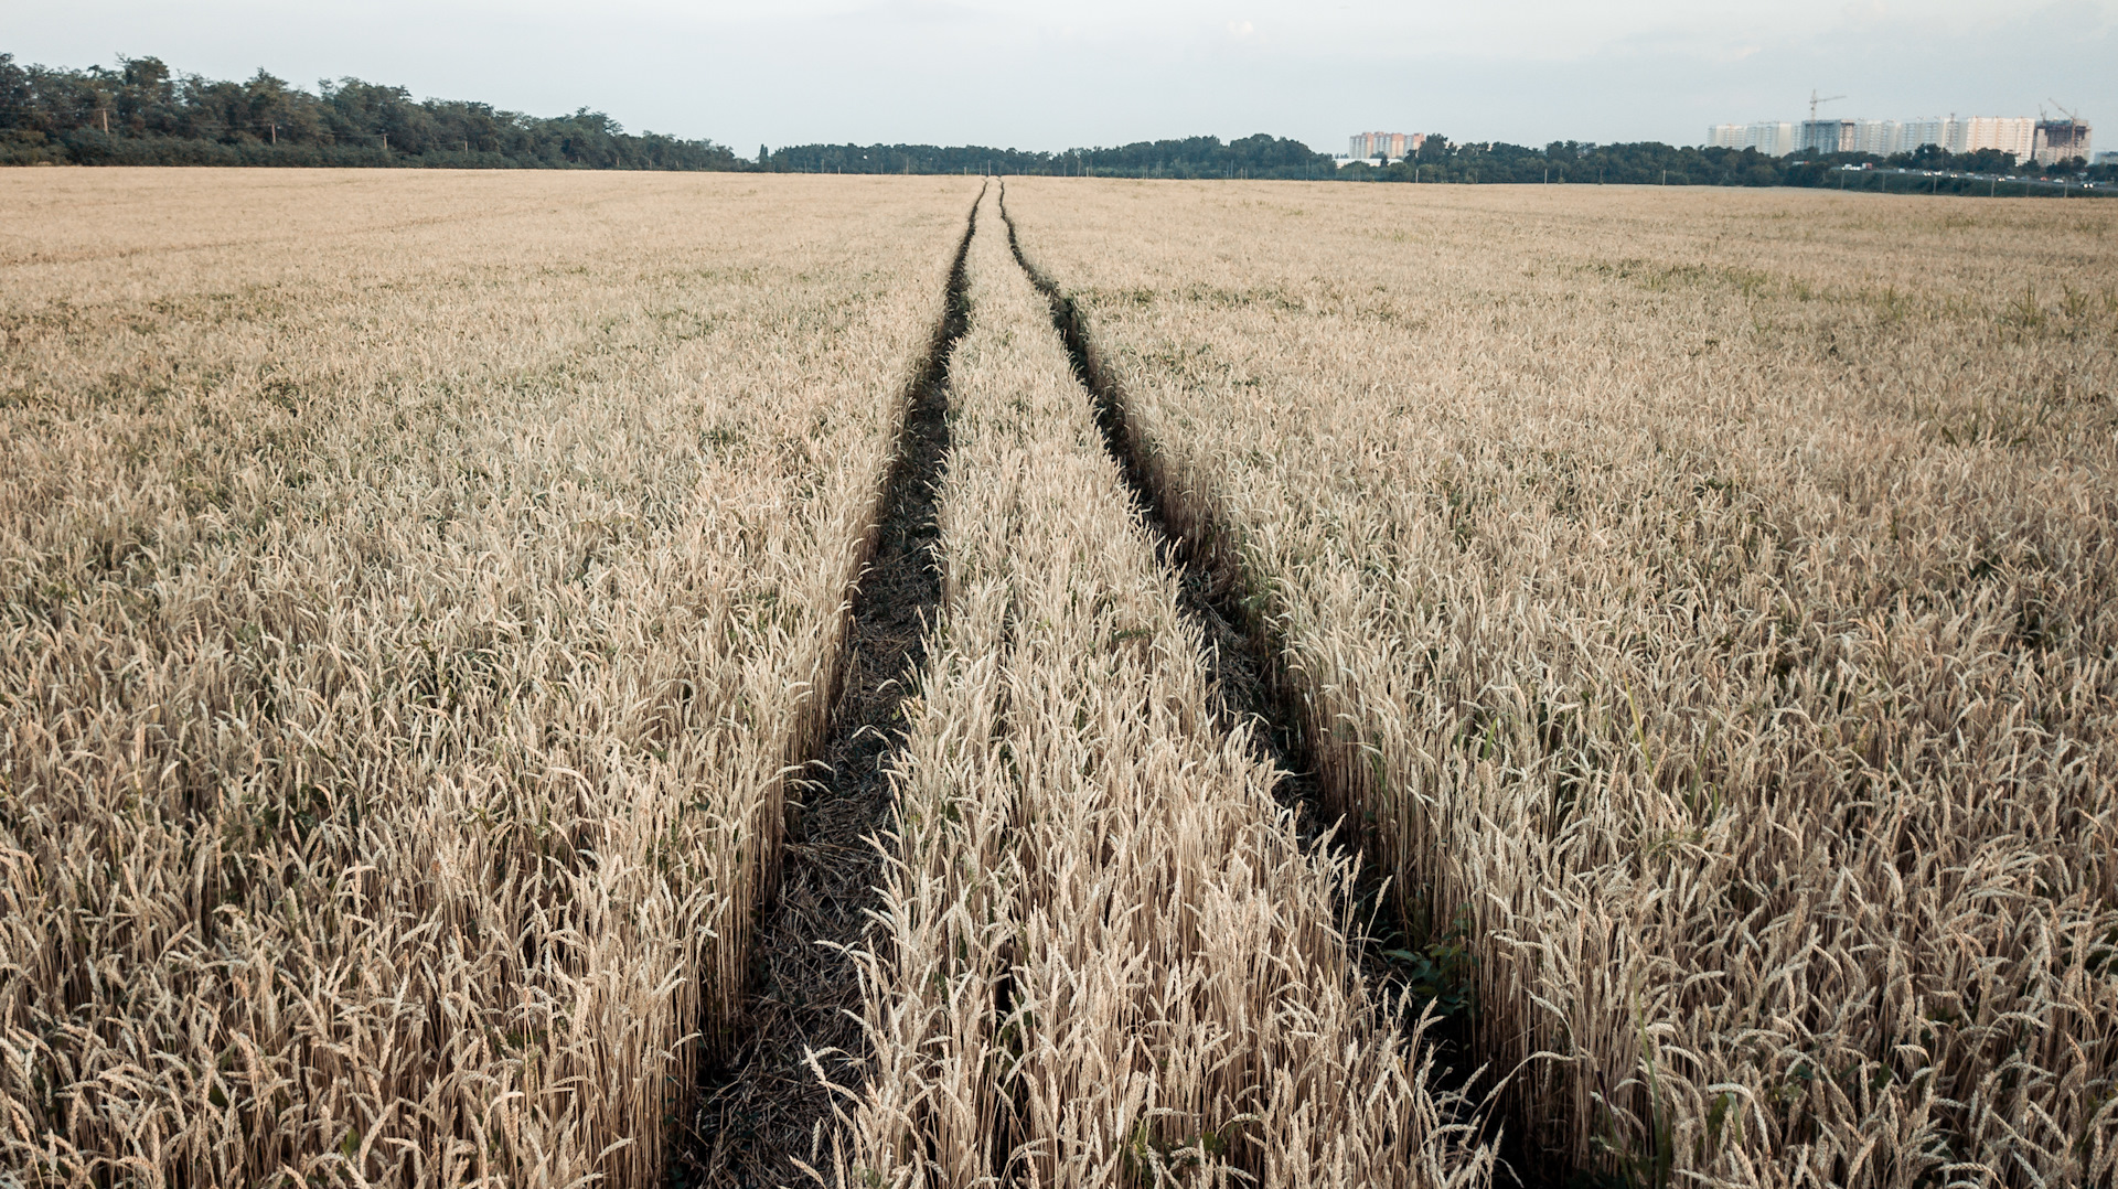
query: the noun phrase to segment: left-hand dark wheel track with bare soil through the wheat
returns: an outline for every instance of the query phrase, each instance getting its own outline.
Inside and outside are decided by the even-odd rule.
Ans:
[[[979,191],[985,197],[985,191]],[[917,689],[923,632],[940,606],[934,487],[949,456],[949,358],[968,324],[964,261],[979,225],[972,203],[949,269],[949,295],[928,354],[913,373],[904,426],[877,507],[868,566],[851,600],[830,723],[798,810],[790,808],[777,899],[760,909],[746,998],[748,1039],[726,1064],[699,1075],[688,1134],[669,1161],[671,1187],[809,1185],[794,1161],[822,1166],[830,1151],[830,1092],[809,1068],[858,1085],[866,1053],[860,975],[845,947],[873,926],[883,854],[894,829],[890,757],[900,746],[900,704]],[[822,1132],[820,1132],[822,1128]]]

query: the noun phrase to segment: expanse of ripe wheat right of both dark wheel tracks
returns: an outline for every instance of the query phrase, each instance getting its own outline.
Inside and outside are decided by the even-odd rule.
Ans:
[[[1550,1151],[2118,1178],[2118,212],[1010,199]]]

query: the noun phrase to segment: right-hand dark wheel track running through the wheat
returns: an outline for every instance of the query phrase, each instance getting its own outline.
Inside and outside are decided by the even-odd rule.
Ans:
[[[1008,248],[1029,282],[1044,295],[1053,312],[1053,326],[1065,341],[1074,377],[1089,390],[1095,407],[1095,424],[1103,432],[1103,447],[1118,462],[1125,485],[1131,487],[1133,504],[1154,540],[1156,555],[1178,574],[1178,602],[1182,613],[1199,625],[1205,636],[1207,672],[1220,691],[1220,712],[1228,721],[1252,721],[1258,729],[1252,740],[1271,759],[1286,780],[1279,782],[1279,801],[1294,810],[1296,829],[1309,846],[1328,837],[1334,850],[1349,848],[1356,863],[1356,897],[1349,916],[1362,928],[1358,960],[1370,988],[1402,994],[1413,983],[1413,969],[1392,958],[1392,954],[1419,954],[1432,960],[1428,937],[1411,937],[1408,922],[1385,903],[1387,873],[1368,860],[1362,844],[1364,831],[1358,822],[1339,827],[1339,812],[1330,808],[1324,784],[1324,763],[1303,706],[1303,689],[1288,672],[1286,636],[1273,623],[1262,579],[1245,572],[1241,557],[1231,547],[1216,547],[1224,540],[1211,509],[1199,500],[1184,500],[1180,492],[1165,490],[1165,479],[1154,466],[1152,443],[1139,441],[1125,411],[1125,392],[1097,362],[1095,345],[1089,339],[1089,324],[1074,301],[1055,280],[1038,271],[1023,254],[1015,233],[1015,218],[1008,216],[1008,189],[1000,187],[1000,218],[1008,227]],[[1470,1085],[1470,1072],[1483,1064],[1474,1030],[1461,1015],[1440,1017],[1428,1030],[1428,1043],[1442,1047],[1449,1070],[1438,1079],[1444,1089],[1470,1096],[1485,1094],[1485,1085]],[[1502,1070],[1504,1072],[1504,1070]],[[1552,1168],[1550,1161],[1525,1151],[1516,1136],[1521,1125],[1510,1121],[1502,1142],[1506,1178],[1512,1174],[1521,1185],[1542,1189],[1567,1183],[1567,1170]]]

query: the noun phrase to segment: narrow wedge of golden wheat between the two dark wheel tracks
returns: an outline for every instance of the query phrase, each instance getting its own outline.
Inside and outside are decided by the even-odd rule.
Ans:
[[[1345,867],[1218,723],[993,210],[968,284],[851,1181],[1485,1183],[1349,962]]]

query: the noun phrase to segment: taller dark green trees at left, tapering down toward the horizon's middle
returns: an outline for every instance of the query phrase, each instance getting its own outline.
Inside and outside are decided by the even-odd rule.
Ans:
[[[0,53],[0,165],[438,165],[453,170],[737,170],[712,140],[627,134],[580,108],[540,119],[413,100],[339,78],[303,91],[258,70],[225,83],[159,57],[116,68],[17,66]]]

